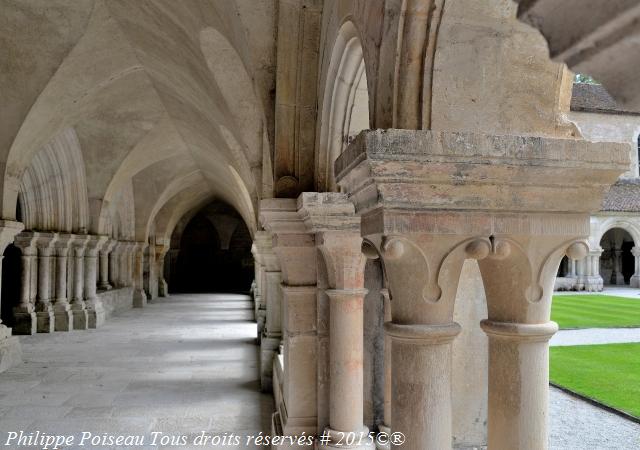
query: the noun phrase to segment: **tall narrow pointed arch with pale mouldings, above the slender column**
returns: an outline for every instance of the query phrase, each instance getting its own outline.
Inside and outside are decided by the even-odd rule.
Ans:
[[[333,163],[362,130],[369,128],[369,92],[362,43],[346,22],[336,38],[324,87],[316,159],[319,191],[336,191]]]

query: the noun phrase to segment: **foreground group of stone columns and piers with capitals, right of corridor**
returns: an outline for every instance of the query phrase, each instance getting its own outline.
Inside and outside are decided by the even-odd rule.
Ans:
[[[614,154],[609,164],[599,156],[605,145]],[[496,152],[500,164],[492,162]],[[254,247],[263,261],[256,308],[266,307],[263,387],[274,364],[282,364],[284,378],[273,382],[281,392],[272,432],[324,433],[330,448],[354,448],[345,434],[367,435],[364,261],[379,255],[388,287],[380,430],[403,434],[391,449],[451,448],[452,343],[461,331],[453,309],[463,263],[474,259],[488,310],[481,322],[489,340],[488,446],[547,448],[553,282],[565,255],[586,257],[597,269],[586,243],[589,214],[624,171],[625,152],[551,138],[364,131],[336,162],[344,194],[263,200],[260,221],[271,247],[264,234]],[[558,158],[576,163],[571,177]],[[566,192],[593,201],[559,195]],[[375,250],[363,251],[363,242]],[[264,261],[272,253],[278,276],[269,279]],[[268,336],[282,340],[282,359]],[[355,448],[372,446],[364,439]]]

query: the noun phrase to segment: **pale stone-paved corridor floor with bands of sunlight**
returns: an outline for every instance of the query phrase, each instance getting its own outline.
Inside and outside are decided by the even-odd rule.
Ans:
[[[0,374],[0,445],[20,430],[76,435],[76,443],[82,432],[146,436],[126,446],[136,449],[164,448],[160,435],[149,445],[153,432],[192,443],[203,431],[268,431],[274,407],[258,388],[252,317],[247,296],[174,295],[97,330],[22,337],[25,362]]]

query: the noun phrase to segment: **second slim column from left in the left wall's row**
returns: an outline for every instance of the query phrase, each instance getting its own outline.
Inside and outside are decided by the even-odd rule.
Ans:
[[[51,305],[51,255],[58,235],[34,233],[38,249],[38,293],[36,296],[36,320],[38,333],[55,331],[55,316]]]

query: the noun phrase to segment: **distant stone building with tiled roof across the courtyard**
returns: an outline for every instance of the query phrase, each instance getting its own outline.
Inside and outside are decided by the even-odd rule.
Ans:
[[[569,119],[591,141],[629,144],[629,169],[591,217],[589,255],[565,257],[556,289],[601,291],[604,286],[640,287],[640,114],[627,111],[601,85],[574,84]]]

